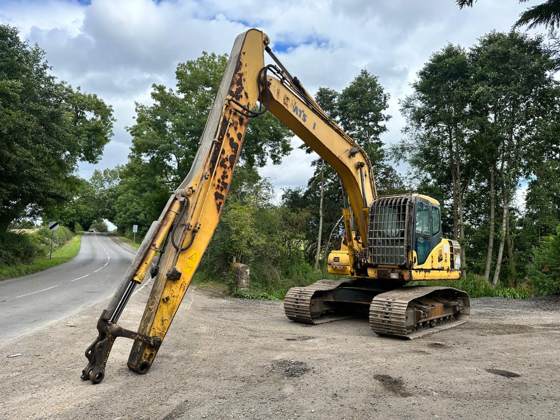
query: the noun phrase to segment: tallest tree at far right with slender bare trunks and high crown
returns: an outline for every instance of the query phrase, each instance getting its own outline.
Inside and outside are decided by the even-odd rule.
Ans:
[[[516,31],[483,36],[469,57],[474,68],[475,100],[486,104],[499,141],[496,175],[502,189],[502,235],[493,277],[497,284],[506,244],[510,278],[515,278],[508,228],[511,194],[520,179],[533,171],[537,139],[547,129],[551,113],[557,113],[558,83],[552,76],[556,64],[543,53],[542,38],[531,39]]]

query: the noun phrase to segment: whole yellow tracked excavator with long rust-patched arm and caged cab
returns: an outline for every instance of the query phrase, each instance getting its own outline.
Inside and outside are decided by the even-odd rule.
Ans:
[[[287,317],[319,324],[369,313],[375,333],[409,339],[468,319],[469,296],[463,291],[403,287],[410,281],[461,276],[460,246],[442,238],[440,204],[420,194],[378,197],[363,148],[324,113],[269,43],[256,29],[237,36],[192,169],[152,223],[101,313],[98,337],[86,349],[83,380],[97,384],[104,379],[117,337],[134,340],[131,370],[146,374],[150,369],[220,220],[249,121],[267,111],[328,162],[344,187],[346,234],[329,254],[328,271],[347,278],[290,289],[284,300]],[[265,52],[273,64],[265,65]],[[155,280],[134,332],[118,320],[148,272]]]

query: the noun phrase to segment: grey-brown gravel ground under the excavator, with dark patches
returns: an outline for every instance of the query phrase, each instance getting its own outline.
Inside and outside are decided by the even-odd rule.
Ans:
[[[123,326],[136,328],[148,289]],[[403,341],[366,319],[307,326],[282,302],[191,289],[147,375],[128,370],[132,342],[118,339],[92,385],[79,377],[83,352],[106,303],[0,346],[0,418],[559,418],[554,298],[474,299],[468,323]]]

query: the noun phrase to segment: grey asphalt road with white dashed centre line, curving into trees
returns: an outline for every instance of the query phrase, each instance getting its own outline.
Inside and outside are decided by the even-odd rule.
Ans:
[[[76,258],[0,281],[0,344],[113,295],[133,256],[108,234],[85,232]]]

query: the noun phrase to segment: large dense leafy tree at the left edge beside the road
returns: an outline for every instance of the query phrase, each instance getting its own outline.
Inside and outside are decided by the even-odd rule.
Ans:
[[[12,220],[71,199],[77,163],[97,162],[112,136],[111,106],[50,70],[38,45],[0,25],[0,236]]]

